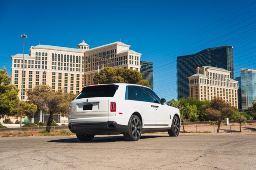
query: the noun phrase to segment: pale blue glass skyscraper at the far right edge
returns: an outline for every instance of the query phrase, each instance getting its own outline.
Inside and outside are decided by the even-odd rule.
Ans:
[[[256,101],[256,70],[241,69],[242,110],[247,110]]]

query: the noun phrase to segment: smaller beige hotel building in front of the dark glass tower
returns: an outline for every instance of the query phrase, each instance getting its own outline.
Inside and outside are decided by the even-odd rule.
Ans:
[[[222,98],[238,108],[238,81],[230,78],[230,71],[213,66],[196,68],[196,74],[188,77],[189,95],[197,100]]]

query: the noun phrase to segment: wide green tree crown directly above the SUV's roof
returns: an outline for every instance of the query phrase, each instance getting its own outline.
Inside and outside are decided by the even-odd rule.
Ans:
[[[94,84],[130,83],[149,86],[149,82],[142,79],[140,72],[124,68],[105,67],[96,73],[93,81]]]

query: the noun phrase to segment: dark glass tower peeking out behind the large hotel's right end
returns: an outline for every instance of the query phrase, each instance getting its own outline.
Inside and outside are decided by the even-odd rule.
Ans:
[[[140,61],[140,73],[144,80],[148,80],[149,87],[153,89],[153,63]]]

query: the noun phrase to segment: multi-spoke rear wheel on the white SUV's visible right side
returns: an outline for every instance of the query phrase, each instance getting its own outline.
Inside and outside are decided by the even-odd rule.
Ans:
[[[124,131],[126,141],[138,141],[142,133],[142,123],[137,115],[132,115]]]

